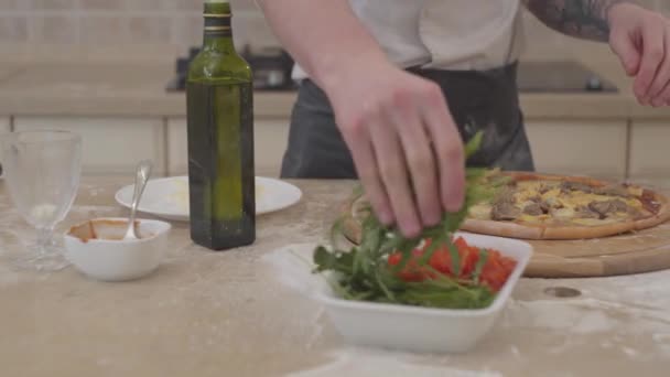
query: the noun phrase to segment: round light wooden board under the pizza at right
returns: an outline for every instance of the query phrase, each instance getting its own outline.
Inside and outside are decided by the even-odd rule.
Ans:
[[[359,238],[359,222],[352,216],[352,197],[343,206],[345,236]],[[618,236],[580,240],[527,240],[533,257],[529,278],[585,278],[670,269],[670,222]]]

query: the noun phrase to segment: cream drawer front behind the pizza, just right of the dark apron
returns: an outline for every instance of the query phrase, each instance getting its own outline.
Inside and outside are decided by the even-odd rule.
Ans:
[[[626,175],[625,120],[529,120],[526,128],[539,172],[614,180]]]

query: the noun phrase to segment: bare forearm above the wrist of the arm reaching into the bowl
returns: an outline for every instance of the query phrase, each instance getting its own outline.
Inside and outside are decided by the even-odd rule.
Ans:
[[[257,2],[284,47],[324,89],[342,79],[342,72],[370,62],[387,63],[386,54],[347,0]]]

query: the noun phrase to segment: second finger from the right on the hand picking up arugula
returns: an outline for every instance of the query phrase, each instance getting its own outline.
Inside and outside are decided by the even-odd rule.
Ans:
[[[400,91],[395,96],[393,105],[389,111],[389,118],[398,131],[404,151],[422,224],[424,226],[436,225],[442,217],[437,166],[422,120],[414,111],[418,101],[412,95]]]

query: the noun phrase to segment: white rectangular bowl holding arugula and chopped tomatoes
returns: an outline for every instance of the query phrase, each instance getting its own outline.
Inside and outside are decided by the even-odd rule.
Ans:
[[[494,326],[530,260],[532,246],[509,238],[457,235],[471,245],[497,249],[517,261],[488,308],[449,310],[350,301],[336,297],[327,283],[317,284],[315,297],[347,343],[411,352],[467,352]]]

